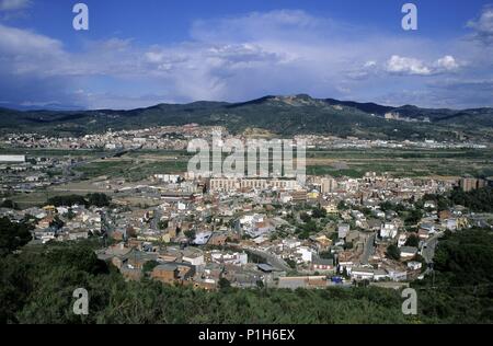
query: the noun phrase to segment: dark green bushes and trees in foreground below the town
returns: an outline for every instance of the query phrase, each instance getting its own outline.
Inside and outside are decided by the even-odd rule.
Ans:
[[[399,291],[375,287],[234,289],[215,292],[142,279],[126,282],[94,254],[99,240],[27,245],[28,226],[0,222],[2,323],[492,323],[493,232],[448,233],[435,280],[413,285],[419,315],[404,316]],[[432,276],[429,276],[432,277]],[[90,314],[72,313],[77,288]]]

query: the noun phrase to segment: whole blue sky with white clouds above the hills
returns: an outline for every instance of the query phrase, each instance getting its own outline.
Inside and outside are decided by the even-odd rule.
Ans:
[[[133,108],[309,93],[390,105],[493,106],[493,3],[0,0],[0,106]]]

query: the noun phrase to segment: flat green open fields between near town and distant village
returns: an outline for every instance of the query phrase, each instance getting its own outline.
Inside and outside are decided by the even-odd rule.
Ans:
[[[39,205],[50,196],[106,192],[104,180],[127,183],[148,181],[153,174],[183,173],[192,157],[186,151],[139,150],[121,158],[100,159],[104,153],[91,150],[9,150],[31,157],[83,155],[85,163],[73,169],[80,178],[47,191],[13,196],[21,206]],[[344,149],[307,151],[307,173],[360,177],[366,172],[390,173],[399,177],[454,178],[465,174],[493,176],[493,151],[445,149]]]

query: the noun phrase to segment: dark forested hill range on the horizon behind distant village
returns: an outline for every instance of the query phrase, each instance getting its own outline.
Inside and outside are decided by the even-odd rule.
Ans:
[[[387,118],[386,118],[387,117]],[[379,139],[493,139],[493,108],[429,109],[405,105],[265,96],[244,103],[159,104],[131,111],[13,111],[0,108],[0,131],[81,136],[108,128],[221,125],[232,132],[264,129],[278,136],[323,134]]]

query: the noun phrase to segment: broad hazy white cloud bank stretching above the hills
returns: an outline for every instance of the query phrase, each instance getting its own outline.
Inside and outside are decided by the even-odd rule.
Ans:
[[[197,21],[191,39],[173,45],[111,38],[72,54],[57,39],[0,24],[0,94],[19,104],[67,100],[115,108],[295,93],[376,101],[389,89],[426,89],[423,77],[462,73],[463,55],[471,51],[360,33],[302,11],[255,12]],[[470,68],[474,61],[468,58]]]

